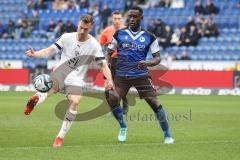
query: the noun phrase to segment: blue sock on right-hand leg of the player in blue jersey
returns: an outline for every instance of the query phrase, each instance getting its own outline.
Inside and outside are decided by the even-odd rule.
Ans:
[[[161,108],[158,112],[156,112],[156,117],[159,121],[160,127],[162,128],[164,138],[172,137],[172,134],[170,132],[170,128],[168,125],[167,114],[163,108]]]

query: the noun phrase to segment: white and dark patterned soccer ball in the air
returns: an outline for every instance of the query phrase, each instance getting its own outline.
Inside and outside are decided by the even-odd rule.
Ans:
[[[47,74],[40,74],[34,78],[34,87],[39,92],[47,92],[53,86],[53,81],[50,79],[50,76]]]

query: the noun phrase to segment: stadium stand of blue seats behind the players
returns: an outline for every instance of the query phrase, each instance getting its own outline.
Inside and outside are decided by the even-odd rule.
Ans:
[[[101,3],[100,3],[101,2]],[[186,51],[192,60],[240,60],[240,9],[237,7],[238,0],[212,0],[214,5],[219,7],[219,13],[216,15],[202,15],[205,19],[209,16],[216,23],[219,30],[219,36],[202,37],[199,39],[197,46],[171,46],[162,49],[163,54],[176,55],[177,59],[181,59],[183,51]],[[36,1],[35,1],[36,3]],[[37,9],[39,23],[32,26],[31,33],[28,37],[4,38],[3,34],[8,30],[7,24],[9,20],[16,23],[19,20],[31,19],[33,17],[33,9],[29,9],[26,0],[1,0],[0,1],[0,23],[2,23],[2,34],[0,34],[0,60],[22,60],[24,67],[34,69],[39,65],[46,65],[47,60],[32,60],[24,56],[25,50],[31,45],[35,50],[47,47],[54,42],[54,38],[47,35],[47,29],[50,20],[54,20],[55,24],[62,20],[66,23],[68,20],[77,25],[78,18],[81,14],[87,14],[94,10],[91,7],[99,5],[100,10],[104,5],[109,5],[111,10],[124,11],[126,2],[124,0],[91,0],[90,8],[53,10],[52,2],[45,2],[46,9]],[[202,0],[205,4],[206,0]],[[187,23],[189,16],[195,17],[194,13],[195,0],[185,1],[184,8],[144,8],[143,27],[146,28],[151,19],[161,19],[169,25],[173,30],[182,28]],[[144,5],[143,5],[144,7]],[[101,26],[101,14],[95,16],[95,29],[93,35],[97,36]],[[1,25],[0,25],[1,28]],[[56,38],[56,37],[55,37]]]

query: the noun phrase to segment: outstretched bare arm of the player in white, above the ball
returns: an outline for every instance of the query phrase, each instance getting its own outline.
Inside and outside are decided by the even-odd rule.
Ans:
[[[28,57],[36,57],[36,58],[44,58],[48,57],[52,53],[55,52],[55,49],[53,47],[48,47],[39,51],[34,51],[32,47],[30,47],[26,52],[25,55]]]

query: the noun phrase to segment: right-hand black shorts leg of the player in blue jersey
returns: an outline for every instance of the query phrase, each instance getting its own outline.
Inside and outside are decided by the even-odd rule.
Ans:
[[[139,97],[142,99],[156,98],[157,92],[153,87],[150,77],[140,77],[132,81],[133,86],[137,89]]]

